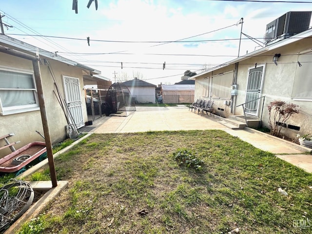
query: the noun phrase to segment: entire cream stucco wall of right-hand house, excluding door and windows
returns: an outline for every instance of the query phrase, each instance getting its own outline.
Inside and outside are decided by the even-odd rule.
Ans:
[[[260,55],[249,57],[240,61],[238,63],[236,81],[238,84],[238,93],[237,96],[233,97],[233,101],[231,103],[234,113],[231,113],[231,106],[224,104],[224,100],[213,98],[215,101],[215,113],[223,117],[229,117],[230,115],[243,115],[242,107],[236,106],[246,102],[248,69],[254,68],[255,63],[257,63],[257,66],[265,64],[264,79],[261,90],[261,96],[266,96],[265,103],[263,105],[262,125],[269,127],[268,104],[273,100],[283,100],[287,103],[291,102],[299,106],[300,113],[293,115],[293,117],[287,121],[287,124],[300,127],[300,131],[283,128],[282,134],[295,138],[296,134],[303,135],[306,133],[312,133],[312,101],[295,100],[292,98],[292,88],[295,70],[297,67],[298,53],[307,49],[311,49],[311,39],[301,39],[297,42],[271,51],[269,50]],[[273,63],[273,56],[275,54],[281,54],[281,57],[277,61],[277,65]],[[310,66],[310,64],[304,63],[303,66]],[[212,77],[215,74],[232,70],[234,70],[234,64],[217,69],[213,71],[213,74],[210,72],[196,77],[195,100],[197,98],[203,98],[202,94],[204,92],[202,89],[204,89],[204,78]],[[307,78],[311,78],[311,74],[307,74]],[[209,86],[209,89],[211,89],[211,85]],[[209,93],[211,94],[211,92]],[[261,115],[262,100],[260,101],[258,108],[260,110],[258,113],[259,117]],[[217,108],[224,109],[224,111],[217,110]]]

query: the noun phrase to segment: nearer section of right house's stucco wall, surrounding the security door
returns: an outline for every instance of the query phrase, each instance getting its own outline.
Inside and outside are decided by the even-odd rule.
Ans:
[[[261,56],[246,59],[239,63],[237,84],[238,95],[236,97],[235,106],[245,102],[246,87],[248,80],[248,68],[257,65],[265,64],[265,74],[263,79],[262,94],[265,97],[263,107],[262,125],[269,127],[269,112],[268,104],[273,100],[283,100],[287,103],[294,103],[299,106],[300,113],[293,115],[287,124],[300,127],[300,131],[283,128],[282,133],[288,137],[295,138],[296,134],[306,134],[312,132],[312,101],[293,100],[292,87],[294,82],[295,69],[297,66],[298,52],[311,48],[309,40],[301,40],[289,44],[288,46],[280,47],[276,50],[262,54]],[[281,54],[277,61],[277,65],[273,63],[274,54]],[[309,64],[304,64],[309,66]],[[260,111],[263,101],[260,101]],[[235,108],[234,115],[242,115],[242,107]],[[260,116],[260,112],[259,112]]]

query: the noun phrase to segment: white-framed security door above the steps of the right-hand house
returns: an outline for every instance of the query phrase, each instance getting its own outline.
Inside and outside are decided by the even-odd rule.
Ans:
[[[258,116],[265,65],[248,69],[245,113]]]

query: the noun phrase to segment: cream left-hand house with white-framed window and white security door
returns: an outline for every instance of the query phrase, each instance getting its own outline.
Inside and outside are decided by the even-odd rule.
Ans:
[[[0,48],[0,136],[14,133],[15,136],[8,140],[20,141],[15,145],[16,149],[33,141],[44,141],[36,132],[43,135],[32,61],[14,55],[21,52],[31,56],[37,54],[40,58],[39,70],[52,143],[66,138],[66,126],[84,126],[88,121],[84,80],[102,81],[94,76],[100,74],[99,71],[6,35],[0,35]],[[0,145],[5,145],[3,139]],[[3,149],[0,157],[9,153],[9,148]]]

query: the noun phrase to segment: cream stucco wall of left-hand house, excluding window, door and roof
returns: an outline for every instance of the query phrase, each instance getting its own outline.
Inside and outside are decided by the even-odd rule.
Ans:
[[[56,81],[59,85],[59,89],[62,92],[64,97],[63,81],[61,75],[71,76],[79,78],[80,80],[80,93],[82,100],[82,113],[85,121],[87,121],[86,106],[83,96],[83,80],[82,80],[82,71],[79,68],[58,62],[49,60],[53,73],[55,75]],[[26,59],[20,59],[11,55],[0,53],[0,65],[25,69],[33,71],[32,62]],[[49,130],[52,139],[52,143],[57,143],[66,138],[65,125],[67,125],[66,118],[64,113],[59,105],[57,98],[55,97],[53,90],[55,90],[54,80],[51,77],[51,74],[46,65],[40,65],[40,73],[43,85],[43,92],[45,98],[45,105],[47,110],[47,117],[49,123]],[[15,133],[15,136],[8,137],[10,142],[19,141],[20,143],[15,145],[16,149],[21,148],[22,146],[33,142],[33,141],[44,141],[39,134],[36,133],[36,130],[43,135],[43,128],[41,122],[40,111],[31,111],[23,112],[19,114],[12,114],[2,116],[0,115],[0,136],[6,135],[8,133]],[[3,140],[0,140],[0,145],[5,145]],[[11,153],[10,149],[4,149],[0,151],[0,157],[3,157]]]

